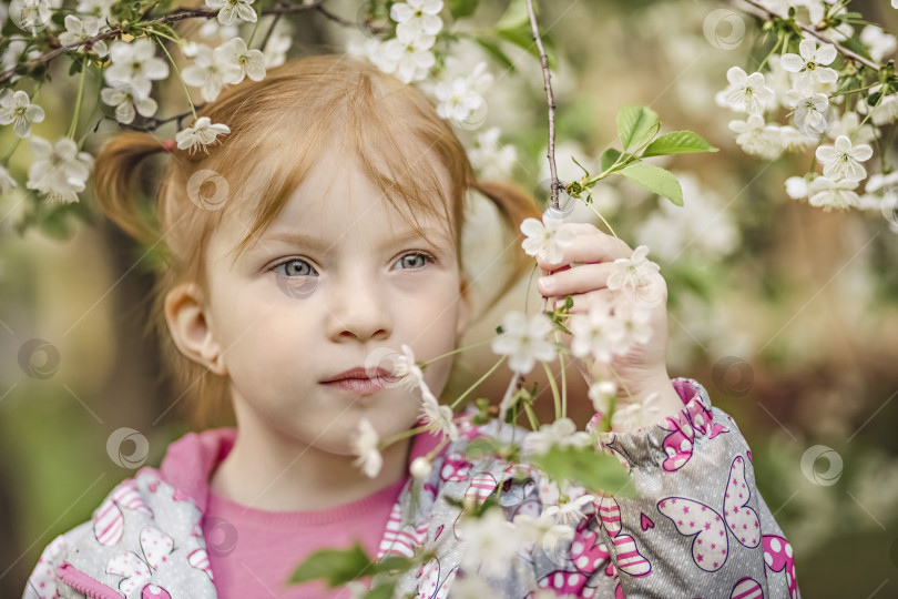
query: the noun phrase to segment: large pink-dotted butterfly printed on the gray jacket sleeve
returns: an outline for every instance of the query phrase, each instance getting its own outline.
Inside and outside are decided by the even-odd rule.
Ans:
[[[686,497],[665,497],[657,502],[657,509],[674,522],[681,535],[695,536],[693,561],[702,570],[714,572],[723,568],[728,557],[727,529],[745,547],[757,547],[761,542],[761,520],[748,507],[749,499],[745,459],[736,456],[724,489],[723,517],[705,504]]]

